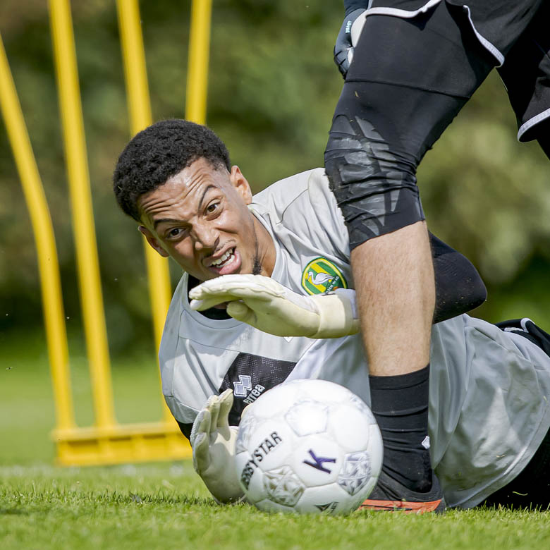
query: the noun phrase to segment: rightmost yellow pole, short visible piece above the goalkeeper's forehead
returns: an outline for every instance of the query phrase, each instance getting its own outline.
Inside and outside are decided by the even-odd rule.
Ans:
[[[212,0],[193,0],[185,118],[197,124],[206,123],[211,18]]]

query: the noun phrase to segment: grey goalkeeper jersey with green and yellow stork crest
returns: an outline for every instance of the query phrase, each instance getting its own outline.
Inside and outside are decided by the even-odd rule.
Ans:
[[[274,183],[250,209],[274,240],[273,279],[303,294],[353,288],[348,231],[324,170]],[[360,335],[271,336],[191,310],[187,290],[184,273],[160,349],[163,393],[180,422],[231,388],[238,423],[247,403],[285,379],[334,381],[370,403]],[[550,357],[527,338],[468,315],[434,325],[430,451],[449,506],[475,506],[525,468],[549,429],[549,398]]]

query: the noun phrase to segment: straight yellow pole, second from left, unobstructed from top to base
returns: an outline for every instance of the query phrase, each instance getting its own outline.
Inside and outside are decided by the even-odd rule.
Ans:
[[[99,277],[73,23],[68,0],[49,0],[49,13],[95,420],[97,427],[111,427],[115,420],[109,348]]]

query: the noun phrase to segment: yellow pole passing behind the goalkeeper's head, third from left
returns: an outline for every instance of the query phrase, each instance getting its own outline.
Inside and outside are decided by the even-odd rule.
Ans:
[[[116,7],[118,9],[118,26],[121,33],[124,75],[126,78],[130,133],[135,135],[152,123],[147,69],[145,67],[145,49],[140,26],[140,8],[138,0],[117,0]],[[159,350],[164,320],[171,299],[170,273],[168,261],[160,257],[149,246],[145,238],[143,238],[143,245],[147,262],[154,338],[157,350]],[[164,400],[162,410],[164,420],[173,422],[172,415]]]

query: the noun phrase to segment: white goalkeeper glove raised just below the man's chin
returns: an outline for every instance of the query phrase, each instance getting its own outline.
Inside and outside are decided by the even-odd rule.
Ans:
[[[262,275],[223,275],[195,286],[189,296],[194,310],[229,302],[231,317],[275,336],[339,338],[359,330],[350,289],[304,296]]]

